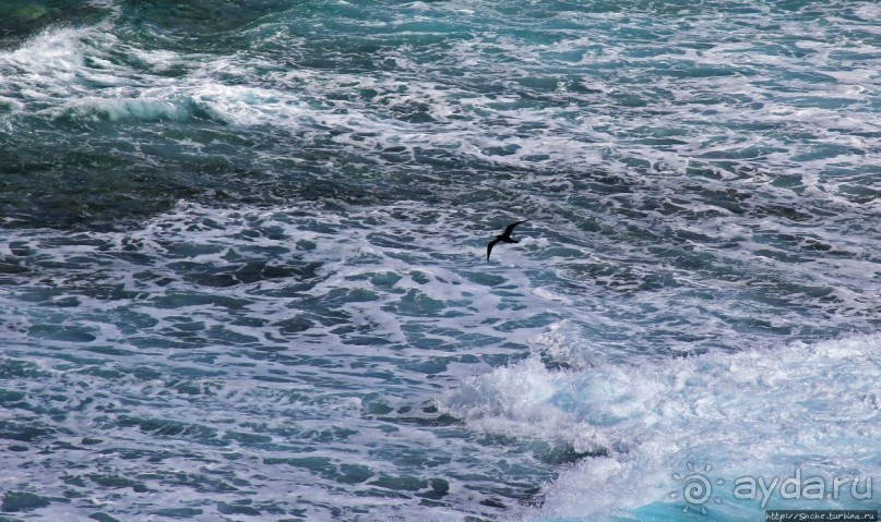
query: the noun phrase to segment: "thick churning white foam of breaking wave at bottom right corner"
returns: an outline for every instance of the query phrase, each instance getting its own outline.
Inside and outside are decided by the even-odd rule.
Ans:
[[[879,476],[879,335],[576,371],[547,369],[534,355],[466,379],[444,404],[478,429],[608,451],[550,484],[539,520],[640,519],[641,510],[686,507],[681,495],[670,496],[681,488],[674,474],[706,464],[707,476],[725,482],[716,487],[719,502],[706,508],[737,520],[765,507],[761,498],[733,496],[737,477],[770,483],[796,469],[830,484],[833,476]],[[832,505],[876,509],[879,486],[874,503],[842,495]],[[766,506],[830,503],[772,495]]]

